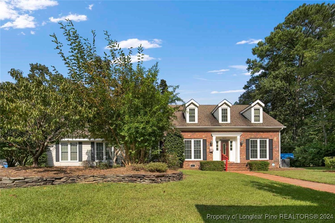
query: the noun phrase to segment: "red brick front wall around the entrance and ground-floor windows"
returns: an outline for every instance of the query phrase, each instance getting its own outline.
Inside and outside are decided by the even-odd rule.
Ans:
[[[279,168],[279,131],[182,131],[185,139],[207,139],[207,160],[213,160],[213,153],[209,152],[210,141],[213,140],[211,133],[233,133],[241,132],[240,141],[243,141],[243,145],[240,146],[240,162],[246,163],[250,160],[246,160],[246,139],[253,138],[268,138],[273,139],[273,160],[266,160],[270,162],[270,168],[272,163],[275,164],[276,168]],[[196,168],[199,168],[199,160],[185,160],[183,167],[190,168],[191,164],[195,164]]]

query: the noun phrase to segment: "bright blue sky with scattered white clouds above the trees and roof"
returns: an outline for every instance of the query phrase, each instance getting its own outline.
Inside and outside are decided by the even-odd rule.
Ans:
[[[71,18],[83,37],[96,30],[100,55],[107,45],[103,30],[125,48],[142,43],[144,66],[158,61],[159,79],[180,85],[184,101],[234,103],[250,78],[245,61],[254,58],[252,47],[303,3],[1,0],[1,81],[12,81],[11,68],[27,74],[29,63],[53,65],[66,75],[49,35],[65,43],[57,22]]]

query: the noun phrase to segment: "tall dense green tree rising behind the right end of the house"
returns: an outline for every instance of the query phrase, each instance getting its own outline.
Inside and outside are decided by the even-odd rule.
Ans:
[[[317,126],[331,132],[329,111],[334,103],[325,99],[325,92],[332,94],[334,86],[334,48],[328,39],[332,38],[334,16],[335,4],[299,6],[252,49],[257,59],[247,60],[252,77],[238,103],[262,100],[265,111],[287,126],[282,136],[286,143],[307,135],[306,120],[320,116],[326,118],[320,118]]]

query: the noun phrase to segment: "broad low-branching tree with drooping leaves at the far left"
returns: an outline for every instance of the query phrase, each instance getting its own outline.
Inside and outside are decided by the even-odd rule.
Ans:
[[[60,139],[80,134],[92,115],[82,101],[77,83],[53,74],[48,67],[30,64],[28,77],[9,72],[12,82],[1,83],[1,141],[29,151],[33,166]]]

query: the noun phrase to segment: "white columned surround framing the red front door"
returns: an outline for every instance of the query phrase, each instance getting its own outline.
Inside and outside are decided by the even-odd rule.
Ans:
[[[232,151],[229,148],[229,160],[231,162],[240,162],[240,132],[212,133],[213,137],[213,160],[220,160],[220,149],[216,150],[216,141],[228,140],[232,141]],[[219,143],[220,145],[220,143]]]

